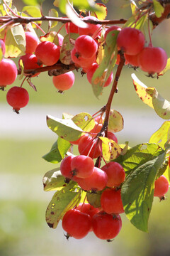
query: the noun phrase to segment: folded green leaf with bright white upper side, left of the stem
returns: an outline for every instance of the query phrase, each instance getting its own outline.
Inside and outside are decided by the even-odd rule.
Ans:
[[[72,119],[60,119],[47,116],[47,126],[59,137],[69,142],[73,142],[81,137],[83,130],[79,128]]]

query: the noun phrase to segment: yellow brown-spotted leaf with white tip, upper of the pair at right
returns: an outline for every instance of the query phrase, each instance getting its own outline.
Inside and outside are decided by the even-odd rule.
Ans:
[[[140,97],[140,100],[147,104],[149,107],[153,107],[152,104],[152,96],[149,95],[147,92],[147,85],[145,85],[143,82],[141,82],[135,74],[132,74],[132,80],[133,80],[133,85],[135,87],[135,91],[137,95]]]

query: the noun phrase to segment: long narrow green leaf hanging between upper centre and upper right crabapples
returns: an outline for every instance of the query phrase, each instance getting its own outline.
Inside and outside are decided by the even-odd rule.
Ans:
[[[106,44],[104,45],[104,56],[101,65],[96,69],[92,79],[92,88],[94,95],[98,97],[103,91],[103,85],[113,70],[117,58],[116,40],[119,31],[111,31],[106,36]]]

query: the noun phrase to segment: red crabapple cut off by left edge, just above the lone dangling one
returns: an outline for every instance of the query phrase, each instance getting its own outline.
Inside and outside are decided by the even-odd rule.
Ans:
[[[16,64],[13,60],[3,58],[0,61],[0,87],[11,85],[18,75]]]

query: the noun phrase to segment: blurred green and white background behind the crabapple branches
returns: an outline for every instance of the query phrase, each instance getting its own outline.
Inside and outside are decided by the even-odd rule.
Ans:
[[[52,2],[46,0],[42,5],[45,15],[47,9],[53,7]],[[130,10],[119,8],[126,3],[110,1],[108,18],[128,18]],[[23,6],[19,0],[13,1],[13,4],[18,10]],[[169,25],[167,20],[155,29],[152,42],[154,46],[166,49],[168,55]],[[47,23],[43,28],[47,28]],[[137,97],[130,77],[134,72],[147,86],[157,87],[161,95],[170,100],[169,73],[157,80],[147,78],[140,70],[124,68],[112,108],[120,111],[125,121],[123,131],[116,134],[118,141],[129,141],[130,146],[147,142],[164,122]],[[111,90],[111,87],[104,88],[103,95],[97,100],[86,75],[83,78],[79,72],[75,72],[75,75],[74,86],[62,95],[57,93],[52,78],[46,73],[33,78],[38,92],[33,91],[25,82],[30,102],[19,115],[6,104],[6,91],[0,93],[0,255],[170,255],[169,197],[161,203],[154,198],[148,234],[136,230],[122,215],[123,228],[113,242],[98,240],[92,233],[83,240],[70,238],[67,241],[61,223],[56,230],[50,229],[45,223],[45,210],[53,192],[43,191],[42,177],[45,172],[54,169],[55,165],[47,163],[41,156],[50,150],[56,139],[55,134],[46,126],[45,115],[61,117],[62,112],[77,114],[82,111],[94,114],[106,104]],[[17,79],[15,85],[20,84],[21,80]]]

